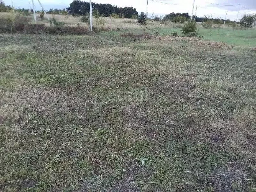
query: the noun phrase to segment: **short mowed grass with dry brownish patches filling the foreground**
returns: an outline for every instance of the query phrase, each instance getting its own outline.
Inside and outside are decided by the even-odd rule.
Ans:
[[[255,191],[256,53],[122,34],[0,34],[0,189]]]

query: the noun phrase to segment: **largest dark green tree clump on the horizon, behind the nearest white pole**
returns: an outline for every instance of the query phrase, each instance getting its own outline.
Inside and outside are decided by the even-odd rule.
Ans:
[[[89,2],[74,0],[71,4],[71,14],[85,15],[90,11]],[[98,11],[100,15],[109,17],[111,14],[118,14],[120,17],[131,18],[138,15],[138,11],[132,7],[117,7],[111,4],[92,3],[92,10]]]

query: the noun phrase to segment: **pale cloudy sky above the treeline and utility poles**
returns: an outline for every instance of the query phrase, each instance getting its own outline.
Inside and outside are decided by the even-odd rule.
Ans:
[[[4,0],[5,4],[11,5],[12,0]],[[37,0],[35,1],[36,10],[40,10],[40,5]],[[73,0],[41,0],[44,9],[49,10],[50,8],[65,8]],[[89,0],[84,0],[89,1]],[[109,3],[116,5],[118,7],[134,7],[137,11],[146,12],[146,1],[147,0],[92,0],[95,3]],[[156,2],[159,1],[159,2]],[[213,15],[213,17],[225,18],[226,11],[228,10],[227,19],[235,20],[237,12],[239,10],[239,5],[241,4],[241,11],[239,17],[241,18],[243,14],[256,13],[256,0],[195,0],[195,9],[197,8],[197,16]],[[16,8],[29,8],[29,2],[32,0],[13,0],[13,4]],[[160,3],[164,2],[164,3]],[[210,4],[213,3],[213,4]],[[177,4],[177,5],[172,5]],[[148,16],[154,15],[164,16],[171,12],[188,12],[189,15],[192,13],[193,0],[148,0]],[[221,5],[235,5],[235,6],[221,6]],[[31,3],[32,6],[32,3]],[[194,14],[195,14],[194,9]]]

